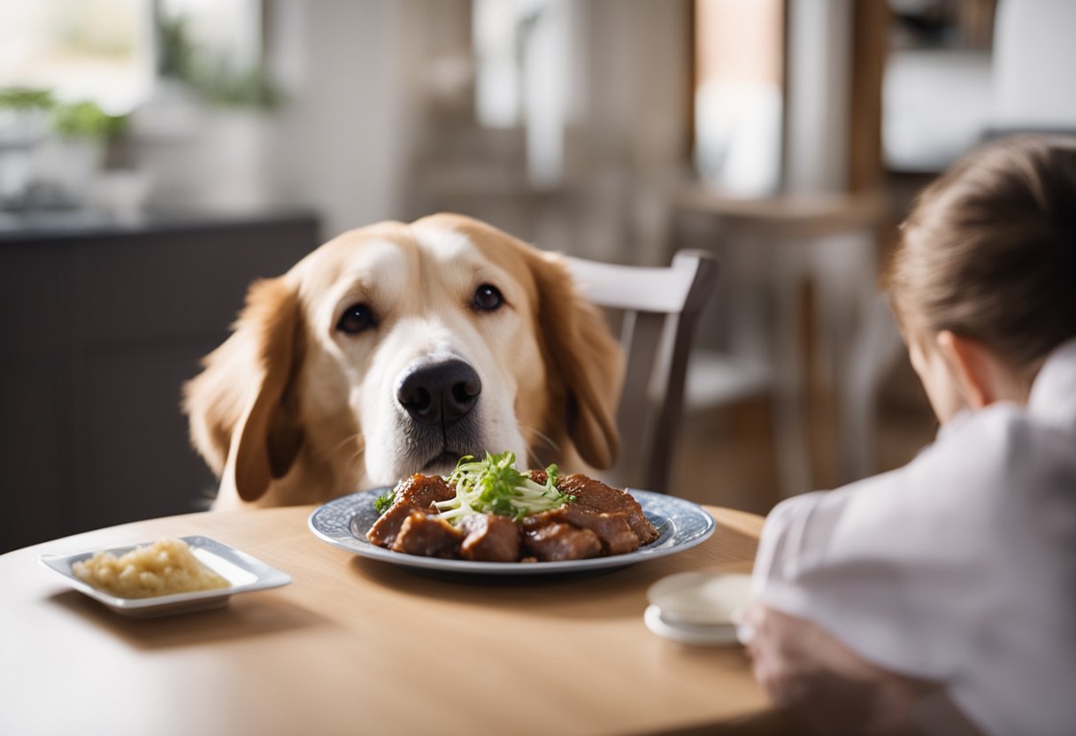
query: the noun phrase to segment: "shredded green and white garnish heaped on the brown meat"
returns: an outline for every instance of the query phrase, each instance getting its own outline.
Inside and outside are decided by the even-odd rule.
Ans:
[[[499,455],[487,452],[482,461],[465,455],[445,479],[456,486],[455,498],[437,501],[434,506],[441,519],[453,523],[473,513],[496,513],[519,521],[576,500],[575,496],[557,490],[555,465],[546,468],[546,476],[544,485],[530,480],[515,469],[515,454],[509,451]]]

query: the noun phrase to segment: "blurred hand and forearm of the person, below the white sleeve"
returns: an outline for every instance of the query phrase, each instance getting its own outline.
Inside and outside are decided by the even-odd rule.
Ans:
[[[912,706],[936,684],[876,667],[809,621],[760,604],[740,620],[754,679],[820,733],[921,733]]]

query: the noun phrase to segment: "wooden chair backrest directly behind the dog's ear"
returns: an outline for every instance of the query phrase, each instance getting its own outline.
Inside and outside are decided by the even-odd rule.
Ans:
[[[688,355],[718,282],[718,259],[704,251],[679,251],[664,268],[567,260],[591,301],[623,314],[627,370],[617,413],[621,444],[606,476],[620,485],[664,493],[683,410]]]

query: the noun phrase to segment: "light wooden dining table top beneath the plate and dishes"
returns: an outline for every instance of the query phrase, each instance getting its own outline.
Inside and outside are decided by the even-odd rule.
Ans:
[[[336,549],[314,507],[123,524],[0,556],[0,734],[795,733],[745,651],[643,623],[647,589],[747,572],[762,519],[705,507],[703,543],[613,570],[462,577]],[[119,615],[38,564],[203,535],[291,584],[216,610]]]

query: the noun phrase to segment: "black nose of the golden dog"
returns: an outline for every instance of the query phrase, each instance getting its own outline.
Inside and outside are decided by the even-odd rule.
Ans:
[[[409,373],[396,391],[396,399],[415,422],[443,424],[458,422],[475,408],[482,381],[463,360],[445,360]]]

